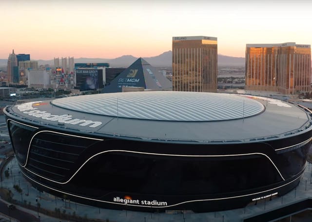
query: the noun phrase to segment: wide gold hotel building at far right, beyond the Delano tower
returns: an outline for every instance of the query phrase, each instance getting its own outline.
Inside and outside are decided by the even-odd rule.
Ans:
[[[311,45],[246,45],[246,90],[295,94],[311,91]]]

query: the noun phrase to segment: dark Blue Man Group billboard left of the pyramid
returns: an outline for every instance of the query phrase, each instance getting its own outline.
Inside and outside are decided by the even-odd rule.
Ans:
[[[96,90],[103,88],[102,69],[77,69],[76,86],[80,91]]]

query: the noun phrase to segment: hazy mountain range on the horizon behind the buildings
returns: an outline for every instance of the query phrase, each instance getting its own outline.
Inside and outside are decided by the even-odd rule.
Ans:
[[[101,58],[78,58],[74,59],[76,63],[99,63],[99,62],[109,62],[111,67],[128,67],[138,58],[125,55],[115,59],[101,59]],[[158,56],[154,57],[143,57],[144,60],[149,62],[152,66],[155,67],[171,67],[172,66],[172,51],[164,52]],[[0,59],[0,67],[6,66],[7,60]],[[49,64],[54,66],[54,60],[38,60],[38,65],[45,65]],[[218,54],[218,66],[244,66],[245,65],[245,58],[242,57],[231,57],[231,56],[224,56]]]

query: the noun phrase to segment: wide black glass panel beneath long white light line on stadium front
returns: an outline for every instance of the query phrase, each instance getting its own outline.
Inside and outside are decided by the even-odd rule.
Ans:
[[[243,191],[281,181],[272,163],[251,159],[179,158],[115,152],[89,161],[70,182],[76,192],[196,195]]]

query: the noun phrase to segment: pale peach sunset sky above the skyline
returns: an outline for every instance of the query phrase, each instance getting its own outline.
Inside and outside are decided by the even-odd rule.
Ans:
[[[0,0],[0,59],[152,57],[177,36],[216,37],[233,57],[250,43],[312,44],[312,1]]]

